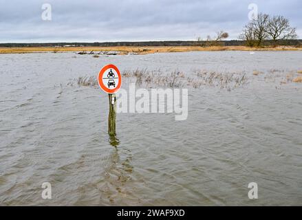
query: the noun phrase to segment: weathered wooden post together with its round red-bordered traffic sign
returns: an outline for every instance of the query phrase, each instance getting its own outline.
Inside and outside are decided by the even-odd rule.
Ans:
[[[109,97],[108,134],[114,137],[116,135],[116,92],[122,85],[122,76],[118,67],[109,64],[100,69],[98,85]]]

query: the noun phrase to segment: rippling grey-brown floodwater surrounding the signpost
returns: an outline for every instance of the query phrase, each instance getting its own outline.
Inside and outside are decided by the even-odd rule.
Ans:
[[[0,205],[301,206],[301,61],[302,52],[1,54]],[[123,89],[169,87],[138,83],[137,69],[181,73],[187,120],[118,113],[111,140],[107,94],[78,85],[107,63]],[[43,182],[52,199],[41,198]],[[259,199],[248,199],[250,182]]]

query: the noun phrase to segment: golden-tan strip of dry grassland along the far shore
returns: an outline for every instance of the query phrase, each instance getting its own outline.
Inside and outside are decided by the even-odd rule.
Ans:
[[[146,46],[146,47],[0,47],[0,54],[62,53],[62,52],[118,52],[118,54],[154,54],[198,51],[302,51],[302,47],[246,47],[246,46]]]

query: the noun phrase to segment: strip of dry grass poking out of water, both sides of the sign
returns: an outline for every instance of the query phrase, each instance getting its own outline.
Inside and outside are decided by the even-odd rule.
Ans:
[[[268,72],[254,70],[252,76],[259,82],[278,83],[280,85],[288,83],[302,83],[302,76],[298,76],[296,70],[285,72],[282,69],[270,69]],[[144,88],[169,87],[169,88],[194,88],[217,87],[228,91],[243,87],[249,82],[246,72],[215,72],[208,70],[195,70],[189,74],[184,72],[162,72],[160,69],[130,69],[122,72],[122,78],[127,83],[136,83]],[[80,76],[68,85],[77,84],[85,87],[98,87],[96,76]]]

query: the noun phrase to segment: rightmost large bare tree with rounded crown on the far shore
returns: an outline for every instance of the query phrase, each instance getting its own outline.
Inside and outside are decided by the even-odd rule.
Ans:
[[[274,45],[279,40],[296,39],[296,28],[290,27],[290,21],[283,16],[274,16],[268,21],[266,33]]]

